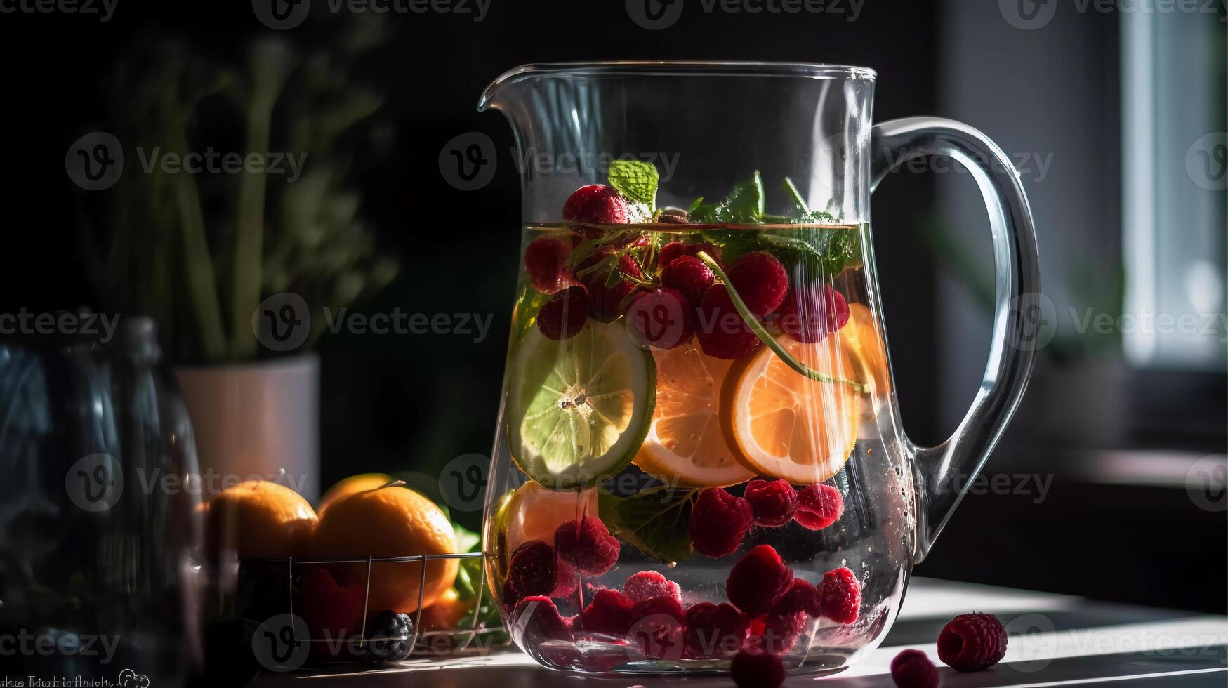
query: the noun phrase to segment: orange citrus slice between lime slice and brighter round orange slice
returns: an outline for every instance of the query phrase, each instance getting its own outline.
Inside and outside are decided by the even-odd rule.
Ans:
[[[721,385],[731,361],[705,355],[699,344],[653,351],[657,408],[635,464],[667,483],[716,488],[754,478],[721,432]]]

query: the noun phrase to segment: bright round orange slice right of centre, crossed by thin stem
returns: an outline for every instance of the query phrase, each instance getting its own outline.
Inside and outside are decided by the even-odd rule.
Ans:
[[[786,335],[776,340],[814,370],[837,380],[853,377],[839,337],[813,344]],[[839,473],[857,442],[860,420],[856,388],[810,380],[766,348],[734,361],[721,391],[721,429],[738,461],[795,485]]]

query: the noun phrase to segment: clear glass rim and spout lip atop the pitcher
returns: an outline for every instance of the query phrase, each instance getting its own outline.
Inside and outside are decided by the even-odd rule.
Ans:
[[[846,79],[874,81],[867,66],[823,63],[769,63],[718,60],[605,60],[581,63],[530,63],[495,77],[478,100],[478,109],[492,107],[495,96],[512,84],[529,77],[562,76],[783,76],[798,79]]]

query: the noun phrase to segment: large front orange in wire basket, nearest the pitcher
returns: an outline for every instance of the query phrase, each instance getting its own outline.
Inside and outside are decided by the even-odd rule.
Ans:
[[[355,493],[329,505],[316,527],[313,555],[321,558],[411,557],[454,553],[456,532],[443,511],[425,496],[389,485]],[[424,608],[457,577],[456,559],[426,564],[421,587]],[[336,566],[339,582],[365,585],[367,564]],[[409,613],[418,609],[421,561],[379,561],[371,565],[367,608]]]

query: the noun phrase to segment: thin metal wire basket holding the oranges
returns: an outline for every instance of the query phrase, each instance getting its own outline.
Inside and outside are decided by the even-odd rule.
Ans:
[[[411,557],[365,557],[365,558],[332,558],[332,559],[244,559],[241,565],[285,565],[286,566],[286,597],[289,600],[290,614],[295,613],[295,568],[296,566],[316,566],[316,565],[329,565],[329,564],[366,564],[366,575],[363,576],[362,584],[362,623],[361,623],[361,636],[357,639],[349,638],[348,641],[356,641],[360,647],[365,646],[371,639],[367,638],[367,604],[371,598],[371,569],[372,564],[421,564],[418,581],[418,604],[414,611],[413,627],[408,636],[384,636],[377,638],[379,641],[399,641],[409,640],[413,647],[414,655],[424,654],[437,654],[432,650],[431,638],[448,636],[449,641],[447,644],[447,654],[459,655],[459,654],[480,654],[489,651],[494,647],[500,647],[511,644],[511,639],[506,638],[506,629],[501,625],[486,627],[480,623],[479,611],[481,609],[483,602],[488,598],[488,586],[486,586],[486,568],[479,566],[481,571],[480,579],[476,587],[476,597],[473,601],[473,612],[468,614],[472,617],[472,623],[468,628],[446,628],[446,629],[432,629],[422,630],[422,601],[426,590],[426,569],[427,563],[433,560],[446,560],[446,559],[478,559],[484,557],[483,552],[467,552],[462,554],[415,554]],[[495,638],[494,634],[502,633],[505,638],[497,641],[488,641],[474,644],[475,639],[486,636]],[[292,641],[298,643],[333,643],[338,639],[335,638],[298,638],[297,630],[293,631]],[[309,634],[308,634],[309,635]],[[344,661],[344,660],[343,660]]]

